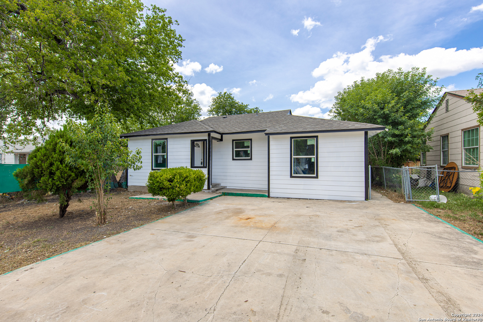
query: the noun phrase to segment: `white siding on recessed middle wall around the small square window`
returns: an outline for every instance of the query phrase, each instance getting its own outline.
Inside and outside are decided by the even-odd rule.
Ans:
[[[252,160],[232,160],[232,140],[252,139]],[[267,189],[267,137],[263,133],[223,135],[213,141],[212,182],[227,188]]]

